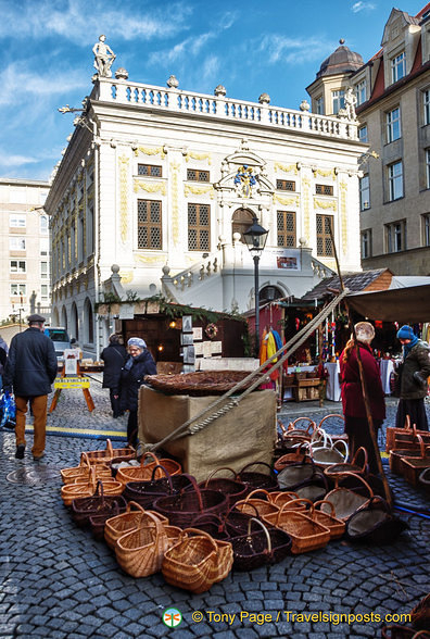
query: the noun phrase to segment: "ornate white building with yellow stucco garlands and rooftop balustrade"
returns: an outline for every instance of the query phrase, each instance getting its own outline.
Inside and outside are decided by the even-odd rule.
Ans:
[[[46,203],[53,322],[87,354],[110,330],[106,292],[252,309],[254,216],[268,229],[263,299],[300,297],[334,268],[329,224],[341,268],[359,270],[356,121],[127,77],[94,76]]]

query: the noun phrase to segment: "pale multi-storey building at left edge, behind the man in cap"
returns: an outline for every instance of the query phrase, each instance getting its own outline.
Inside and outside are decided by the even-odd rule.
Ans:
[[[49,184],[0,178],[0,320],[50,316]]]

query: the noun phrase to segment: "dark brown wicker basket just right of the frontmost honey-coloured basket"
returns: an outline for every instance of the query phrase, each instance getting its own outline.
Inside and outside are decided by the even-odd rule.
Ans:
[[[252,525],[260,529],[252,531]],[[231,539],[233,551],[233,568],[252,571],[266,564],[282,561],[291,554],[291,537],[280,528],[267,528],[263,522],[252,517],[246,535]]]

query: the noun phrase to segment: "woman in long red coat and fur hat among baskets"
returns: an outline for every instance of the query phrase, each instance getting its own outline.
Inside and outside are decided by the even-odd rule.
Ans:
[[[354,326],[355,336],[363,363],[363,373],[370,403],[370,412],[376,435],[385,418],[385,399],[379,366],[375,360],[370,343],[375,337],[375,328],[369,322],[358,322]],[[369,471],[379,474],[374,441],[370,436],[366,406],[363,397],[362,381],[354,337],[346,343],[340,355],[341,396],[345,433],[349,437],[350,455],[353,458],[363,447],[368,456]]]

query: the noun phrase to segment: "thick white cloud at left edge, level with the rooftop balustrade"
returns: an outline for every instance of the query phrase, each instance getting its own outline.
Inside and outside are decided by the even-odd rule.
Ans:
[[[40,75],[27,71],[24,62],[15,62],[0,73],[0,105],[16,104],[20,106],[23,97],[48,98],[66,95],[67,91],[85,89],[88,80],[79,72],[49,73]],[[24,100],[25,101],[25,100]]]

